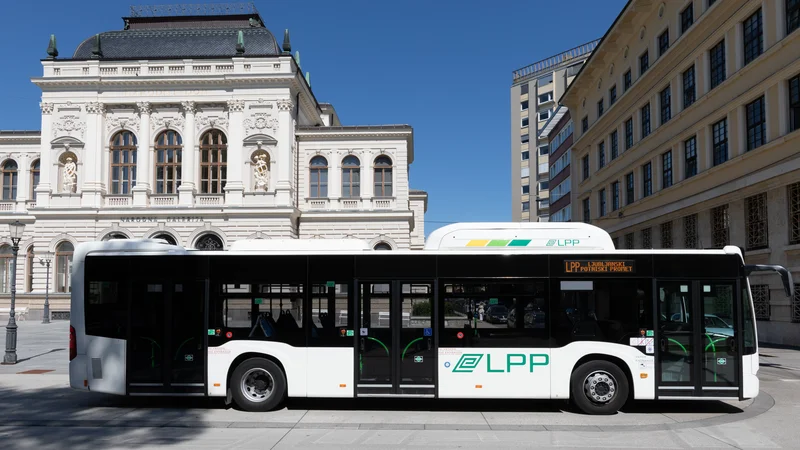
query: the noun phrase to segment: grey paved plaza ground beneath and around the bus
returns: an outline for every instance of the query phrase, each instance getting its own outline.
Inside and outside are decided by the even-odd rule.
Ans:
[[[5,342],[5,328],[0,327]],[[762,349],[746,402],[639,402],[586,416],[563,402],[291,400],[246,413],[205,399],[124,398],[68,387],[68,324],[19,326],[0,366],[3,448],[797,448],[800,352]],[[4,348],[4,347],[2,347]]]

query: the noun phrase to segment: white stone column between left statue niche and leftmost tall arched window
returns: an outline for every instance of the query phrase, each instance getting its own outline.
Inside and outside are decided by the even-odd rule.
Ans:
[[[97,160],[102,159],[103,151],[103,113],[105,107],[102,103],[86,104],[86,145],[83,152],[83,161],[78,161],[78,178],[81,181],[78,191],[81,193],[81,206],[100,207],[102,198],[97,181],[100,174],[97,172]]]

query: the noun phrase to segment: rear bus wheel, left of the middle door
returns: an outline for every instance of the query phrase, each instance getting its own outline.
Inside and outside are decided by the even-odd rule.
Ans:
[[[286,375],[268,359],[250,358],[233,371],[230,390],[239,408],[253,412],[271,411],[286,397]]]

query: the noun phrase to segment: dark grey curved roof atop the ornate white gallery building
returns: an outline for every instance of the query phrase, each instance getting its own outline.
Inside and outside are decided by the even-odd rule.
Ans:
[[[239,31],[244,37],[243,56],[281,54],[275,36],[263,27],[150,28],[100,33],[99,59],[231,58],[237,56]],[[92,59],[95,36],[83,41],[73,59]]]

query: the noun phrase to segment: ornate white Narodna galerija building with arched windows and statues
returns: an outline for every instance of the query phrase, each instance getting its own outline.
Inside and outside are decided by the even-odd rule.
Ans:
[[[423,247],[427,194],[409,188],[410,126],[342,125],[317,100],[288,31],[279,43],[250,4],[131,9],[124,29],[86,39],[71,57],[51,37],[32,80],[41,131],[0,131],[0,223],[27,224],[18,306],[41,309],[40,257],[51,252],[52,310],[65,317],[72,251],[92,240]],[[0,306],[10,263],[3,237]]]

